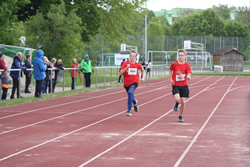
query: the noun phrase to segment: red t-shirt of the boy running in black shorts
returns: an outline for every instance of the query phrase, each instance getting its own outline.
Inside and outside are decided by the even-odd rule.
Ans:
[[[187,78],[180,79],[178,76],[180,74],[191,74],[191,67],[188,62],[184,64],[180,64],[178,61],[175,61],[171,64],[170,68],[173,71],[172,79],[174,80],[175,84],[172,86],[186,86],[188,85]]]

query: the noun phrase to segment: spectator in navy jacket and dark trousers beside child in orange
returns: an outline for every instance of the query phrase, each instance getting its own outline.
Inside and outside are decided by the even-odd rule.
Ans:
[[[14,59],[13,59],[11,69],[13,69],[13,70],[16,70],[16,69],[26,70],[26,67],[22,67],[22,56],[23,56],[23,54],[21,52],[18,52],[16,54],[16,57],[14,57]],[[21,74],[21,76],[19,74]],[[16,89],[17,89],[17,98],[22,98],[22,96],[20,96],[20,93],[19,93],[19,90],[20,90],[19,77],[23,76],[23,72],[22,71],[20,71],[20,72],[19,71],[11,71],[10,76],[12,77],[12,80],[13,80],[13,87],[12,87],[10,99],[15,98],[14,95],[15,95]]]

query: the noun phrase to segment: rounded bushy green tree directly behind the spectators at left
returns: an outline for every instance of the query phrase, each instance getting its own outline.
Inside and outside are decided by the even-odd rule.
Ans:
[[[63,2],[51,5],[46,17],[38,12],[26,24],[29,47],[41,48],[48,58],[61,58],[68,65],[72,58],[80,58],[81,18],[74,11],[68,13]]]

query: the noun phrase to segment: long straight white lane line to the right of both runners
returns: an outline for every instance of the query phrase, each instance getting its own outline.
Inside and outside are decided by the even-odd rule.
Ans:
[[[213,114],[215,113],[215,111],[217,110],[217,108],[219,107],[219,105],[221,104],[222,100],[225,98],[225,96],[229,92],[230,88],[233,86],[233,84],[236,81],[236,79],[237,79],[237,77],[233,80],[233,82],[231,83],[231,85],[228,87],[227,91],[224,93],[224,95],[220,99],[219,103],[216,105],[216,107],[214,108],[214,110],[212,111],[212,113],[209,115],[209,117],[207,118],[207,120],[205,121],[205,123],[202,125],[202,127],[200,128],[200,130],[197,132],[197,134],[195,135],[195,137],[193,138],[193,140],[191,141],[191,143],[188,145],[188,147],[186,148],[186,150],[183,152],[183,154],[180,156],[180,158],[178,159],[178,161],[175,163],[174,167],[178,167],[180,165],[181,161],[184,159],[184,157],[186,156],[186,154],[188,153],[188,151],[190,150],[190,148],[193,146],[194,142],[200,136],[201,132],[206,127],[208,121],[211,119],[211,117],[213,116]]]

